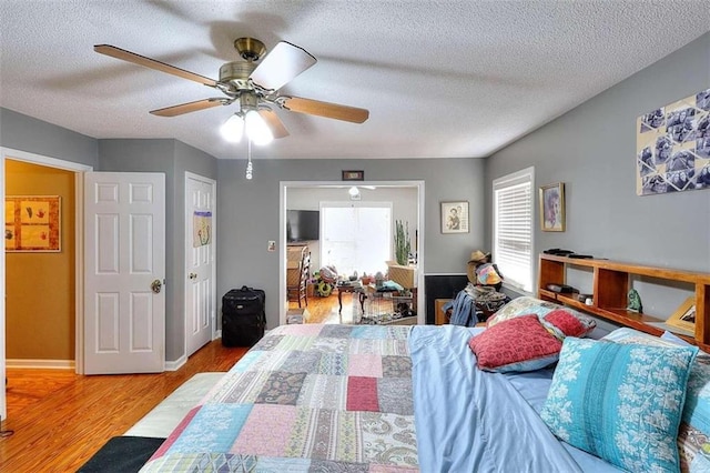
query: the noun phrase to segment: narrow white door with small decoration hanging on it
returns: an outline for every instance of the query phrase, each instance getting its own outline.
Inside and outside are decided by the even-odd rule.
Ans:
[[[216,182],[185,173],[185,354],[212,340],[215,310]]]

